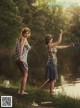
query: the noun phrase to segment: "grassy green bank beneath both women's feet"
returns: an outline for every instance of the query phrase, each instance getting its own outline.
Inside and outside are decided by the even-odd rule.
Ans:
[[[27,95],[17,95],[19,82],[10,81],[10,87],[5,88],[2,85],[4,78],[0,78],[0,95],[13,96],[13,108],[80,108],[80,99],[74,99],[69,96],[55,94],[53,97],[49,95],[46,90],[36,92],[36,88],[31,85],[27,85]],[[32,105],[33,101],[40,107]],[[52,102],[41,104],[42,102]]]

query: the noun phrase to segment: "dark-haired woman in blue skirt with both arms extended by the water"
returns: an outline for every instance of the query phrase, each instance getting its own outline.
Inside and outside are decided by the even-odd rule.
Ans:
[[[47,79],[47,83],[50,84],[51,95],[53,95],[55,81],[58,79],[57,57],[56,57],[57,49],[72,47],[72,45],[60,45],[62,40],[62,34],[63,31],[60,30],[60,35],[56,42],[53,42],[51,34],[46,34],[45,36],[46,48],[48,53],[48,61],[46,64],[46,79]]]

